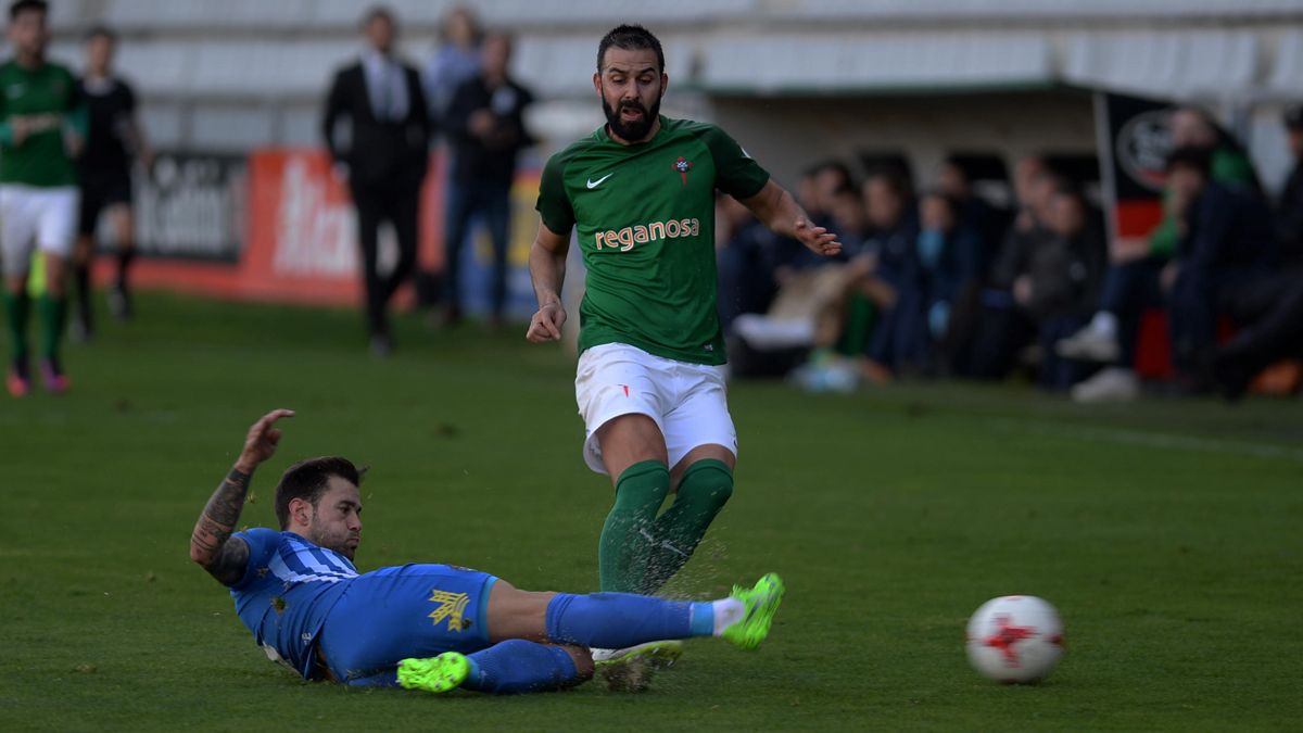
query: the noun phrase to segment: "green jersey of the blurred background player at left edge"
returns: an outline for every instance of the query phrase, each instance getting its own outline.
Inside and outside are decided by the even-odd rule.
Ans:
[[[13,142],[13,117],[39,120],[21,143]],[[40,188],[77,184],[77,168],[64,143],[64,127],[81,128],[85,107],[77,81],[59,64],[27,69],[9,60],[0,64],[0,184]]]

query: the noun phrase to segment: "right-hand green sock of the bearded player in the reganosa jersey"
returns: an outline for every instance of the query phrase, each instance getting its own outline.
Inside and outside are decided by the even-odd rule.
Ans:
[[[674,578],[731,496],[732,471],[727,463],[708,458],[688,467],[674,503],[655,520],[652,563],[638,592],[655,593]]]

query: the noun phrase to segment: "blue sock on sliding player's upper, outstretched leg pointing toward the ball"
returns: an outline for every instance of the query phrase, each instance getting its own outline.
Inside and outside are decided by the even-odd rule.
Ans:
[[[559,644],[615,650],[662,639],[709,636],[713,630],[709,603],[632,593],[556,593],[547,604],[547,636]]]

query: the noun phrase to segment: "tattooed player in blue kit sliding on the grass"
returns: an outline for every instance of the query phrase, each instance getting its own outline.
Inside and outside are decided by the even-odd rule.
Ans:
[[[291,466],[276,486],[281,531],[235,532],[254,470],[280,442],[276,410],[250,429],[190,537],[190,560],[231,588],[267,656],[309,680],[447,693],[559,690],[593,676],[589,647],[722,636],[753,650],[783,595],[769,574],[710,603],[632,593],[528,592],[487,573],[403,565],[358,573],[357,468],[327,456]]]

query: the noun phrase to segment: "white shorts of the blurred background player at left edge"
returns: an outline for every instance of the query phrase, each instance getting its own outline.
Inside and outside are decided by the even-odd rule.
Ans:
[[[31,249],[69,257],[77,235],[76,187],[0,185],[0,265],[5,275],[25,275]]]

